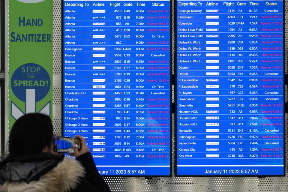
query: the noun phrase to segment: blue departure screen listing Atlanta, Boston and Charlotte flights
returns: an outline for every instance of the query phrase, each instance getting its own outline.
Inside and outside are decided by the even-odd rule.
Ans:
[[[170,1],[63,1],[63,135],[103,176],[170,176]]]

